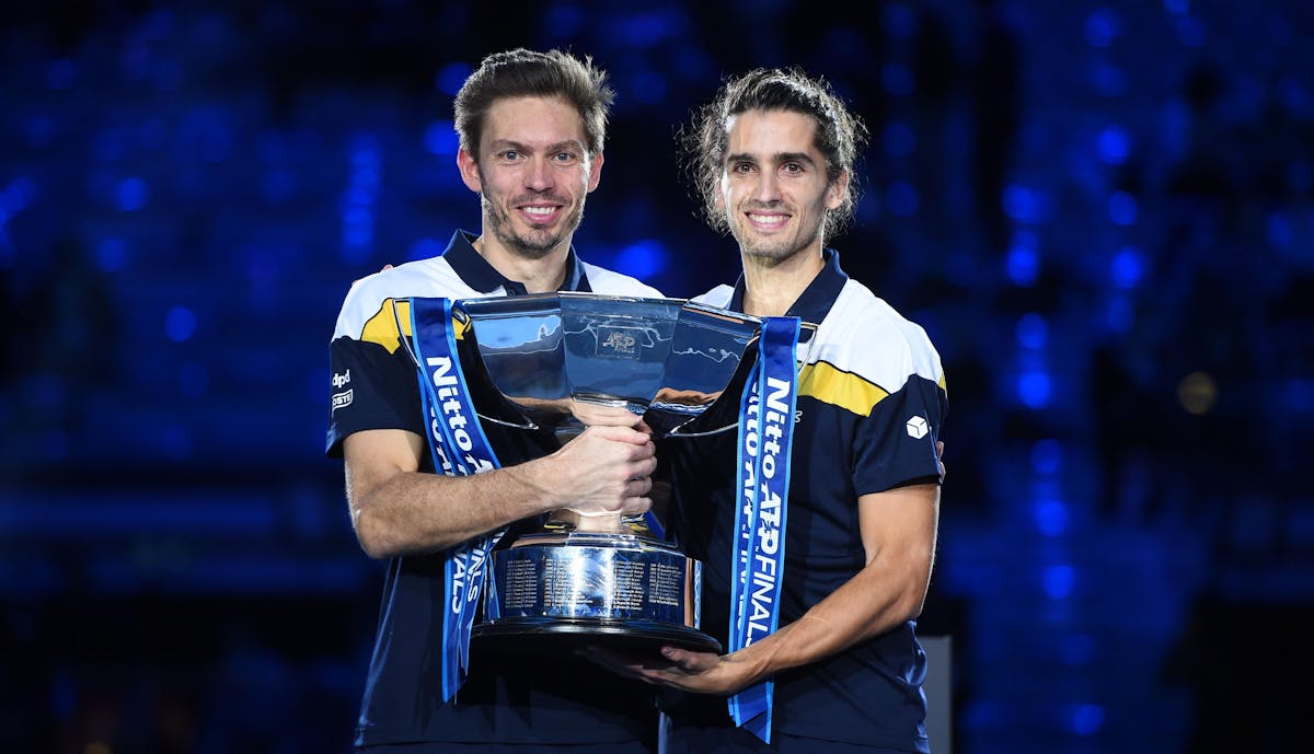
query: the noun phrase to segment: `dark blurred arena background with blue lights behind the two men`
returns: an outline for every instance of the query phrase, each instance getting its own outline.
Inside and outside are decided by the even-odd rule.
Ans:
[[[737,271],[674,167],[720,76],[872,131],[849,272],[929,331],[922,632],[954,749],[1310,751],[1314,7],[783,0],[0,8],[0,741],[346,751],[381,569],[323,458],[352,280],[478,227],[451,96],[569,46],[619,99],[577,247]]]

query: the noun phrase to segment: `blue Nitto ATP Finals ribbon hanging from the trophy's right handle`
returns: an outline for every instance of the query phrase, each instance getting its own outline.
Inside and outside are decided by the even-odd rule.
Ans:
[[[729,652],[771,634],[779,624],[784,578],[784,523],[790,498],[790,447],[798,401],[799,319],[762,321],[758,361],[740,405],[741,499],[731,583]],[[735,725],[771,742],[773,679],[728,699]]]

